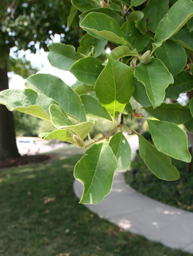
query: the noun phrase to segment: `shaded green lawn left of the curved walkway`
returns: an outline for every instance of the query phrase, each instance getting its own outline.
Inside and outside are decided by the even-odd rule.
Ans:
[[[78,204],[73,167],[82,154],[58,152],[44,163],[0,170],[0,255],[191,255],[124,232]]]

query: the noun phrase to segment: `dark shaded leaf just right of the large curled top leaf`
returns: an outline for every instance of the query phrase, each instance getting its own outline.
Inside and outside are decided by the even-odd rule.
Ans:
[[[121,30],[125,35],[125,39],[132,45],[132,48],[136,48],[137,51],[143,51],[151,38],[148,34],[141,34],[140,30],[136,28],[133,20],[125,22],[124,25],[122,25]]]

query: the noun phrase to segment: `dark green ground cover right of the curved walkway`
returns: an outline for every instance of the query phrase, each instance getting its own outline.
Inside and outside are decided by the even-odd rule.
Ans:
[[[126,183],[153,199],[193,212],[193,170],[187,173],[186,163],[176,159],[172,159],[172,164],[179,170],[180,179],[167,182],[158,179],[137,154],[130,169],[125,173]],[[130,172],[132,168],[137,168],[136,175]]]

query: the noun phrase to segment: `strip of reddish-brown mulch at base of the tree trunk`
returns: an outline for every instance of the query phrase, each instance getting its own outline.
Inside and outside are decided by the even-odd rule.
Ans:
[[[39,163],[55,157],[55,154],[36,154],[35,156],[21,156],[0,161],[0,169],[7,167],[19,167],[24,164]]]

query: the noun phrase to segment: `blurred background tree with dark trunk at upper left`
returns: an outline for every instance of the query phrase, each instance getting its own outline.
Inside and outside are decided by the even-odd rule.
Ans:
[[[81,32],[78,17],[73,20],[73,29],[67,29],[71,8],[68,0],[2,0],[0,6],[0,91],[8,89],[8,71],[22,74],[19,65],[26,64],[24,60],[16,61],[9,57],[11,48],[14,47],[16,55],[19,50],[28,49],[35,53],[35,44],[38,42],[39,48],[47,51],[47,44],[54,34],[60,34],[62,42],[78,45]],[[0,124],[0,160],[18,157],[13,115],[3,105],[0,105]]]

